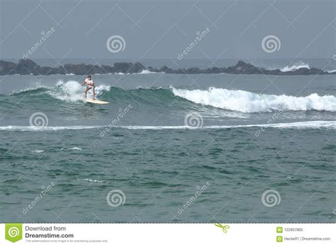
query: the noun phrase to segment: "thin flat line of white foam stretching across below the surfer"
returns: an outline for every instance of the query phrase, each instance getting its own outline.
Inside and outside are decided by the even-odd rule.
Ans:
[[[28,127],[28,126],[0,126],[0,131],[64,131],[64,130],[83,130],[83,129],[104,129],[106,126],[64,126],[64,127]],[[309,121],[309,122],[290,122],[276,124],[245,124],[245,125],[211,125],[203,127],[184,126],[113,126],[116,129],[130,130],[163,130],[163,129],[231,129],[231,128],[284,128],[284,129],[336,129],[336,121]]]

